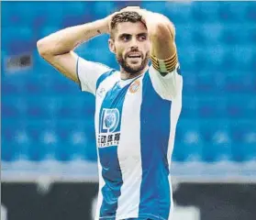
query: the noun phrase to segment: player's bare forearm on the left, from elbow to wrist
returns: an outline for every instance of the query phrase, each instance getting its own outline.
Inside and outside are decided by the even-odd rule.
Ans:
[[[71,28],[61,29],[38,41],[41,55],[61,55],[75,49],[83,42],[108,32],[106,19],[97,20]]]

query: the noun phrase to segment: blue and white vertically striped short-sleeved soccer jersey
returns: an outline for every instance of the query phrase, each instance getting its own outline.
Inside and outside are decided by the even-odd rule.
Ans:
[[[150,66],[122,80],[119,71],[79,58],[77,73],[82,91],[95,94],[95,219],[171,219],[170,163],[182,108],[179,65],[165,77]]]

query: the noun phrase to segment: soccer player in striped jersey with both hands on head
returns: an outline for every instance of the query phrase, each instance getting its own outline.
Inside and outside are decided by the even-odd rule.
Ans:
[[[73,52],[105,33],[119,71]],[[95,219],[172,219],[170,164],[183,88],[174,38],[167,17],[127,7],[38,41],[43,59],[95,94]]]

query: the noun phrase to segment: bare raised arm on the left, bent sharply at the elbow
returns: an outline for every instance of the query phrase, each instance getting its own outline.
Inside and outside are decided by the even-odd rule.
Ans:
[[[92,23],[64,28],[39,39],[37,42],[39,55],[72,81],[79,83],[76,74],[78,56],[73,52],[73,49],[90,38],[108,33],[110,17]]]

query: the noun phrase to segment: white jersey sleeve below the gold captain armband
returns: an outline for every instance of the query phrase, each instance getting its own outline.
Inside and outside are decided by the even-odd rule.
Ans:
[[[173,71],[162,76],[159,71],[150,66],[150,80],[153,88],[162,99],[173,100],[180,96],[183,91],[183,77],[180,71],[180,64],[177,63]]]

